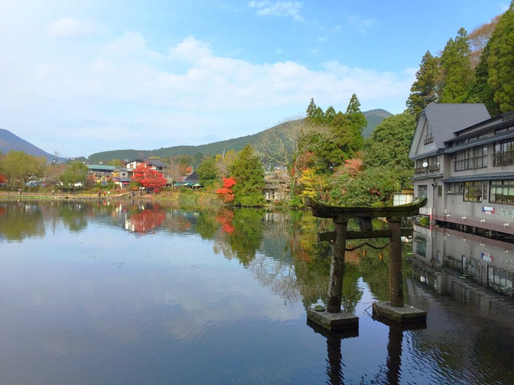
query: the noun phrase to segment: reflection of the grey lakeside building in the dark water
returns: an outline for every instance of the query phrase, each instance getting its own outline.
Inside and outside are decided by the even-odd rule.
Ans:
[[[448,228],[414,226],[412,251],[414,275],[438,294],[480,301],[483,292],[476,289],[485,287],[514,299],[512,243]]]

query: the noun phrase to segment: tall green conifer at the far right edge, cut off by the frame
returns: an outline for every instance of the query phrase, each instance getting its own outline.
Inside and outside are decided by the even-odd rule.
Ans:
[[[514,109],[514,0],[502,15],[488,42],[488,78],[493,102],[500,112]]]

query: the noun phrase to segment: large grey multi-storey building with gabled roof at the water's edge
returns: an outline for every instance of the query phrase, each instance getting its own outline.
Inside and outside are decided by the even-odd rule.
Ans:
[[[514,111],[491,118],[483,104],[432,103],[409,151],[414,197],[431,221],[514,234]]]

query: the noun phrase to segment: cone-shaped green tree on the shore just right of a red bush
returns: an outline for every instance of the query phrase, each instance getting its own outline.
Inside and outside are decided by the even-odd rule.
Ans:
[[[237,152],[229,171],[230,176],[236,182],[232,187],[234,204],[241,206],[260,206],[264,204],[262,192],[264,188],[264,169],[250,144]]]

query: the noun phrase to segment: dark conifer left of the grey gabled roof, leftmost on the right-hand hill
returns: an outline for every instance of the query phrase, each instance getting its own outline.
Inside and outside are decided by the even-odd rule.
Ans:
[[[406,102],[407,109],[416,120],[425,107],[437,102],[440,78],[438,60],[437,56],[432,56],[430,51],[427,51],[416,72],[416,81],[412,84],[411,94]]]

